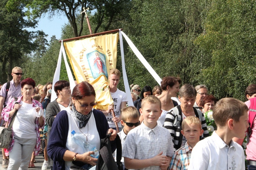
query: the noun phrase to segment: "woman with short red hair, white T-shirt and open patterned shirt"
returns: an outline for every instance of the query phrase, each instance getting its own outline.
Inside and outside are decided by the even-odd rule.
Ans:
[[[42,104],[32,99],[35,81],[31,78],[24,79],[20,83],[23,95],[15,100],[11,99],[2,111],[2,118],[10,121],[13,114],[17,111],[17,115],[13,123],[12,142],[8,148],[9,166],[8,170],[28,169],[31,153],[39,154],[40,136],[39,128],[44,125],[44,117],[41,114],[35,114],[34,111],[40,113]]]

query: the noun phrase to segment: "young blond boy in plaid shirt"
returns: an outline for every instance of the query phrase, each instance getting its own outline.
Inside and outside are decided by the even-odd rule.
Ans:
[[[188,169],[192,149],[203,134],[200,120],[195,116],[186,117],[182,121],[181,133],[185,136],[187,142],[183,147],[175,151],[170,163],[170,170]]]

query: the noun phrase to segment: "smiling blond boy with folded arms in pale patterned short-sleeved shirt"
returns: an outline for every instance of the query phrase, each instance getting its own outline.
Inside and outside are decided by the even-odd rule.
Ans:
[[[157,125],[161,101],[155,96],[145,97],[140,113],[144,120],[128,133],[123,147],[125,168],[167,169],[174,151],[169,131]]]

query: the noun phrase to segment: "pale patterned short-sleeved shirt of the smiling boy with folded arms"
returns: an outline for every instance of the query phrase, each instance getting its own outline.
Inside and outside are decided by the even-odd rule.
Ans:
[[[162,155],[170,157],[174,153],[169,131],[159,125],[154,129],[150,129],[143,121],[140,126],[128,133],[122,156],[130,159],[148,159],[155,157],[161,151],[163,152]],[[143,170],[159,169],[159,166],[143,168]]]

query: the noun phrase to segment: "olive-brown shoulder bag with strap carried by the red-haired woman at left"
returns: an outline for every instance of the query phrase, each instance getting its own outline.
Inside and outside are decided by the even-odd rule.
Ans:
[[[18,98],[14,97],[14,99],[16,102]],[[18,103],[16,102],[16,104]],[[9,145],[12,141],[12,125],[17,112],[18,110],[16,110],[13,114],[10,124],[8,125],[8,128],[0,127],[0,148],[9,148]]]

